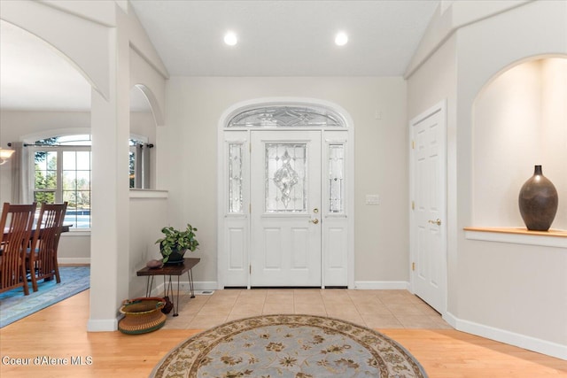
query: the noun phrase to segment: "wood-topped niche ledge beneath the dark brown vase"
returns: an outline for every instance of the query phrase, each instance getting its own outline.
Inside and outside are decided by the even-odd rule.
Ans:
[[[567,248],[567,230],[563,229],[550,228],[548,231],[529,231],[524,227],[463,229],[465,238],[469,240]]]

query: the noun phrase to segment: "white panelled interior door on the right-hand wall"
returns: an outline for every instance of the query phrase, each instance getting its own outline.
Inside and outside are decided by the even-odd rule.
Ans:
[[[412,282],[440,313],[447,304],[446,120],[443,104],[410,124],[412,157]]]

